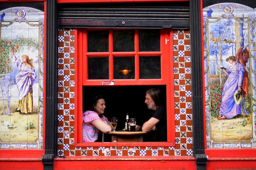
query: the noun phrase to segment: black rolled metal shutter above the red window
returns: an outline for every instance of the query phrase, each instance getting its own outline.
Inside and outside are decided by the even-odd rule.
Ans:
[[[189,28],[189,2],[59,4],[60,27]]]

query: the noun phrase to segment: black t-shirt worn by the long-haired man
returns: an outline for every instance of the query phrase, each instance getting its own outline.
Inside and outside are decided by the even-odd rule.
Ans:
[[[156,109],[153,116],[160,120],[156,124],[156,141],[167,141],[167,124],[166,124],[166,109],[160,106]]]

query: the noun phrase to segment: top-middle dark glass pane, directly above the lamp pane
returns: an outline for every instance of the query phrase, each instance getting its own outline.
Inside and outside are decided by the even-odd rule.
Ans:
[[[134,51],[134,31],[113,31],[113,51],[130,52]]]

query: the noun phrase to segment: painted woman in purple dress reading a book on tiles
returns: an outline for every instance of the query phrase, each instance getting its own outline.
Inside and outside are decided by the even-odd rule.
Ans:
[[[228,76],[222,90],[220,116],[221,119],[231,119],[242,113],[242,102],[236,103],[234,99],[235,92],[242,92],[242,79],[244,74],[244,67],[236,62],[235,56],[229,56],[226,61],[231,64],[228,71],[223,68],[222,71]],[[242,95],[242,94],[241,94]]]

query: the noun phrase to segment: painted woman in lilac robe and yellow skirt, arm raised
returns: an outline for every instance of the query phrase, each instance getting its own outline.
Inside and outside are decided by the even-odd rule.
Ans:
[[[17,111],[22,114],[32,113],[33,110],[33,84],[36,79],[35,69],[33,68],[33,59],[27,55],[22,55],[22,61],[14,55],[14,50],[10,49],[12,62],[17,66],[16,83],[19,90],[19,101]]]

